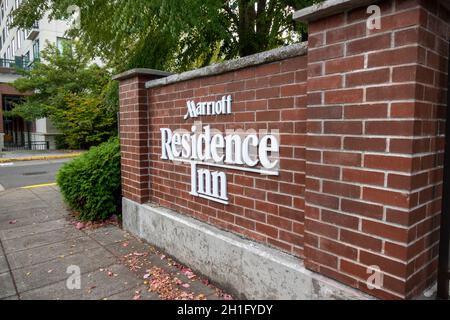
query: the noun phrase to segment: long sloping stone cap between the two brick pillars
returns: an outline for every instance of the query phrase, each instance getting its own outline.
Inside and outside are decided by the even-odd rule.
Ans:
[[[247,57],[242,57],[234,60],[228,60],[218,64],[213,64],[204,68],[174,74],[166,78],[150,80],[145,84],[145,87],[156,88],[176,82],[218,75],[263,63],[269,63],[296,56],[301,56],[307,53],[307,49],[308,48],[306,42],[296,43],[289,46],[280,47],[277,49],[264,51],[261,53],[256,53]]]

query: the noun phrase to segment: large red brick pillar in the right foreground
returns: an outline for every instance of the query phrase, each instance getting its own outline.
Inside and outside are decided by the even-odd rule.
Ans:
[[[309,21],[305,264],[410,298],[436,279],[450,15],[373,2],[380,30],[367,7]]]

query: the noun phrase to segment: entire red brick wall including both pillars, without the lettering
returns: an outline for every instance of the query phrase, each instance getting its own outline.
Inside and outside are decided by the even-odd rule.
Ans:
[[[385,0],[311,22],[307,56],[145,89],[120,84],[123,195],[151,201],[304,258],[380,298],[436,278],[449,13],[437,0]],[[186,101],[233,97],[225,129],[279,129],[278,177],[227,172],[229,205],[189,195],[187,165],[161,160],[160,128],[189,129]],[[369,266],[383,285],[369,290]]]

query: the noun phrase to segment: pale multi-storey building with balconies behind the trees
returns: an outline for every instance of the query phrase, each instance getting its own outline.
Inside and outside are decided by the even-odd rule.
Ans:
[[[47,118],[24,121],[7,117],[4,111],[13,108],[14,102],[24,94],[9,83],[19,77],[16,66],[30,68],[40,59],[40,52],[47,43],[62,45],[69,24],[61,20],[49,21],[47,15],[36,21],[29,30],[12,28],[12,12],[22,0],[0,2],[0,150],[2,148],[54,149],[58,131]]]

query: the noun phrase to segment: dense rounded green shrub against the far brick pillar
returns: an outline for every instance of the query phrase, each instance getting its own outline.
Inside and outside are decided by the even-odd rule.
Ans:
[[[56,181],[80,220],[103,220],[120,213],[120,146],[112,138],[65,164]]]

